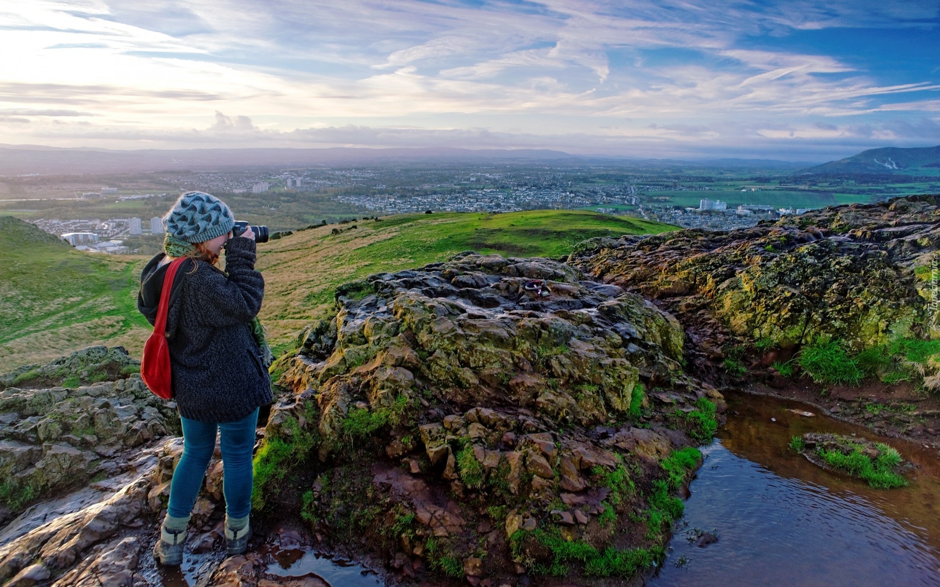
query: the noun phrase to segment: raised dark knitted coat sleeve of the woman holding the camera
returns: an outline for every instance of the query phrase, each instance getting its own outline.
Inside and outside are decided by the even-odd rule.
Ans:
[[[192,299],[200,324],[222,328],[258,316],[264,298],[264,277],[255,270],[255,258],[255,241],[236,237],[226,246],[227,276],[209,267],[187,275],[190,278],[187,297]]]

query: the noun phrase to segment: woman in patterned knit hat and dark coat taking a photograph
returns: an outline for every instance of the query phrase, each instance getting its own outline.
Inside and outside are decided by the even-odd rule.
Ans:
[[[182,421],[183,451],[173,473],[170,501],[153,548],[159,564],[180,564],[199,487],[221,431],[225,467],[226,546],[248,547],[252,450],[258,408],[272,401],[265,363],[270,353],[258,324],[264,278],[255,270],[255,235],[230,239],[232,212],[209,193],[183,193],[164,217],[164,251],[140,278],[137,307],[152,324],[166,266],[187,257],[173,280],[166,341],[173,391]],[[226,249],[226,272],[216,267]],[[263,349],[263,350],[262,350]]]

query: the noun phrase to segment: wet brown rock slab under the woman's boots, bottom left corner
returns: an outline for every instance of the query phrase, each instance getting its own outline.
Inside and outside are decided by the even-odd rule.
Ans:
[[[149,550],[181,452],[180,438],[149,442],[111,457],[105,479],[27,509],[0,533],[0,581],[21,587],[164,584]],[[203,584],[221,584],[207,582],[224,558],[220,465],[214,456],[187,540],[188,560],[203,567]]]

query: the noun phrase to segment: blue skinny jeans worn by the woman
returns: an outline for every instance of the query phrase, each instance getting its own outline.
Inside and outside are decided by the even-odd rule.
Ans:
[[[170,484],[168,513],[172,517],[187,517],[193,512],[196,496],[212,453],[215,451],[215,433],[221,431],[219,446],[225,472],[222,493],[226,496],[228,517],[245,517],[251,511],[252,449],[255,447],[255,428],[258,409],[238,422],[199,422],[182,420],[182,457]]]

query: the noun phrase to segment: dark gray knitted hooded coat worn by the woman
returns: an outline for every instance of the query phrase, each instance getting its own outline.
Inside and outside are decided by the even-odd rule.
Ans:
[[[140,276],[137,308],[156,320],[167,265],[150,259]],[[177,270],[166,317],[173,391],[180,415],[202,422],[235,422],[271,403],[271,379],[251,332],[261,309],[264,278],[255,270],[255,241],[226,245],[226,273],[205,261]]]

